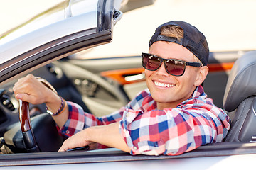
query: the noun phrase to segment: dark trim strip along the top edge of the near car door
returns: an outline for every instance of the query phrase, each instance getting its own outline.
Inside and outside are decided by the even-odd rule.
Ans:
[[[98,149],[73,152],[41,152],[23,154],[4,154],[0,157],[0,166],[27,166],[53,164],[88,164],[102,162],[137,162],[163,159],[186,159],[200,157],[223,157],[242,154],[256,154],[255,142],[218,142],[203,145],[180,155],[150,156],[139,154],[133,156],[119,149]]]

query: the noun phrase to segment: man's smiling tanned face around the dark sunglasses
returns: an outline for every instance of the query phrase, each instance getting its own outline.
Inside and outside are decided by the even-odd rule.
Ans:
[[[178,59],[186,62],[197,62],[193,53],[182,45],[173,42],[157,41],[151,45],[149,53],[164,59]],[[178,103],[190,98],[196,86],[201,84],[199,73],[201,68],[186,66],[180,77],[166,72],[164,63],[156,71],[145,70],[146,85],[151,92],[158,109],[176,108]]]

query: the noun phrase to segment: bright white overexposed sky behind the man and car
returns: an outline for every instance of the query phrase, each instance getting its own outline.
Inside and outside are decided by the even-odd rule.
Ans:
[[[0,0],[0,35],[27,21],[31,13],[45,11],[60,1]],[[107,57],[145,52],[154,29],[171,20],[196,26],[206,35],[211,51],[255,50],[255,6],[255,0],[156,0],[154,5],[124,13],[114,26],[111,45],[97,47],[91,54]],[[100,54],[102,51],[105,53]]]

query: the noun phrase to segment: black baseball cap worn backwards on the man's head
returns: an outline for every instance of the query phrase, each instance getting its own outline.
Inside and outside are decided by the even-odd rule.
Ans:
[[[178,40],[174,37],[166,37],[161,34],[161,28],[163,26],[178,26],[183,30],[183,38]],[[186,47],[189,51],[196,55],[198,59],[202,62],[203,65],[207,65],[208,58],[209,58],[209,47],[206,41],[206,37],[201,33],[196,27],[192,26],[189,23],[184,21],[170,21],[167,23],[162,24],[158,28],[154,35],[151,37],[149,41],[149,47],[156,42],[156,41],[167,41],[167,42],[174,42],[176,44],[182,45]]]

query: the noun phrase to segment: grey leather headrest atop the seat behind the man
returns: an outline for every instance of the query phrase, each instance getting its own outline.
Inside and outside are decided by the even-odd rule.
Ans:
[[[224,109],[234,111],[250,96],[256,96],[256,51],[247,52],[235,61],[225,89]]]

